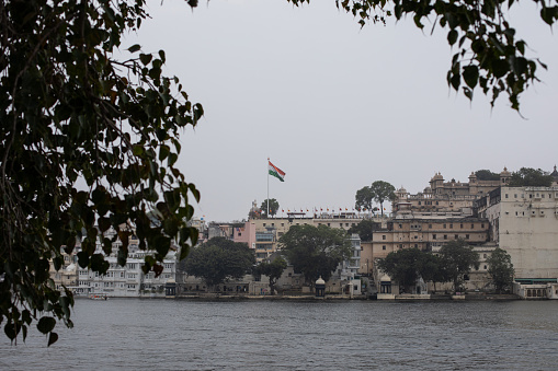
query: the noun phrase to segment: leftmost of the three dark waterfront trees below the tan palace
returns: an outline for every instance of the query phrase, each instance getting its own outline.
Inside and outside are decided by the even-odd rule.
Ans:
[[[401,248],[378,259],[378,268],[396,280],[407,293],[412,293],[412,287],[420,277],[419,262],[424,253],[418,248]]]

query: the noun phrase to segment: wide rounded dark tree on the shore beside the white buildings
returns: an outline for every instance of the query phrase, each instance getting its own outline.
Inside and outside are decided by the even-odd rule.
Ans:
[[[227,279],[242,278],[252,271],[254,264],[254,252],[246,243],[214,237],[192,248],[181,269],[214,288]]]

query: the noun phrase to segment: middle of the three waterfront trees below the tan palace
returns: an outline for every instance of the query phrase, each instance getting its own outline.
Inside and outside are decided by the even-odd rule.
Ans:
[[[465,275],[480,265],[479,254],[464,240],[449,241],[440,250],[440,256],[447,277],[454,283],[454,291],[462,287]]]

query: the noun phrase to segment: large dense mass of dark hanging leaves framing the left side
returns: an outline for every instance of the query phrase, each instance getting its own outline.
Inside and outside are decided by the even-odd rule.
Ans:
[[[160,273],[173,237],[181,257],[197,240],[186,221],[200,192],[175,164],[179,132],[203,108],[162,74],[163,50],[134,45],[128,59],[113,56],[145,8],[145,0],[0,2],[0,322],[12,340],[20,332],[25,339],[34,320],[48,345],[56,320],[72,325],[72,294],[55,290],[48,275],[49,260],[61,266],[61,248],[72,253],[81,240],[79,265],[103,274],[96,239],[114,228],[124,265],[135,232],[141,248],[156,250],[144,271]]]

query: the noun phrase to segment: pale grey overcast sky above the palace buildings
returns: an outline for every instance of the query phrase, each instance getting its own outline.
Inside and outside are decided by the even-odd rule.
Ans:
[[[164,73],[204,106],[181,136],[179,167],[201,190],[195,216],[206,221],[247,219],[267,184],[285,212],[351,210],[375,181],[415,194],[437,172],[467,182],[480,169],[558,162],[558,39],[528,2],[512,26],[548,70],[521,96],[523,117],[506,96],[491,108],[478,89],[472,103],[452,91],[446,32],[423,33],[412,19],[361,28],[333,0],[148,4],[151,19],[126,45],[163,49]],[[284,183],[267,177],[267,158]]]

